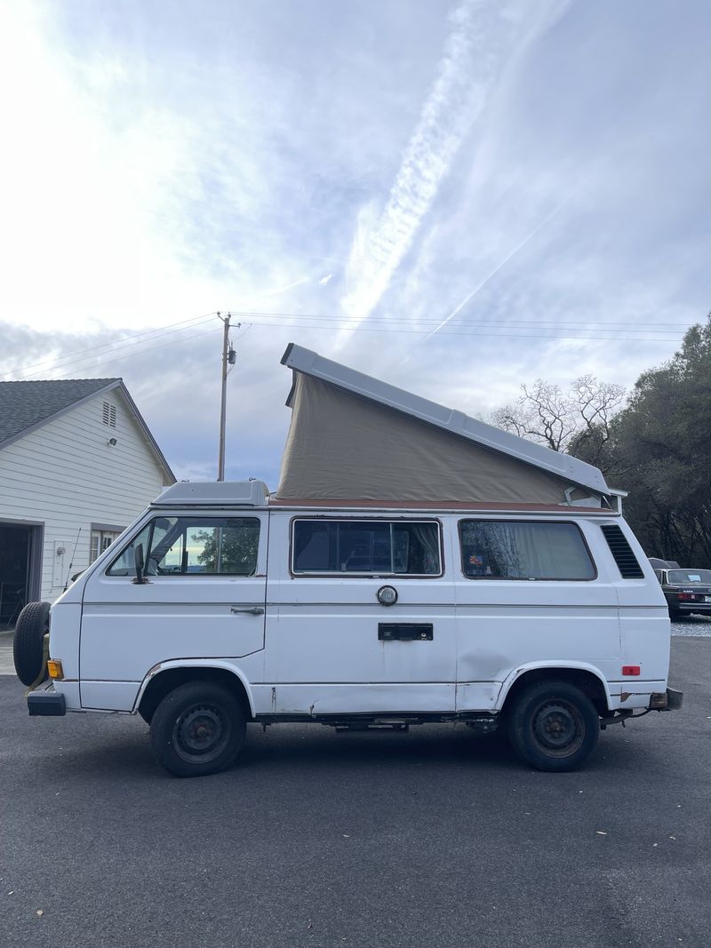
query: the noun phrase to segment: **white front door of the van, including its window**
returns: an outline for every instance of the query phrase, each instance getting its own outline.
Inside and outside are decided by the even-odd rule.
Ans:
[[[156,515],[104,561],[83,593],[82,707],[130,711],[155,665],[264,649],[265,519]]]

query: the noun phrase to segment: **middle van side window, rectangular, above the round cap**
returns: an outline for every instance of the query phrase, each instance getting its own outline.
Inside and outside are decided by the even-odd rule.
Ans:
[[[292,571],[298,574],[442,574],[435,520],[295,520]]]

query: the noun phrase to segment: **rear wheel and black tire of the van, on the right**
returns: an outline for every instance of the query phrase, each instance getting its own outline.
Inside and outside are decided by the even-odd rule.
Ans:
[[[599,715],[590,698],[574,684],[530,684],[507,710],[511,745],[537,770],[577,770],[597,746]]]

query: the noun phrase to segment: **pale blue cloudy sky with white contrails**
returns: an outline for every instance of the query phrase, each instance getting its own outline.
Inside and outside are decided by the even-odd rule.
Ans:
[[[289,342],[486,418],[711,309],[706,0],[0,0],[0,378],[277,485]]]

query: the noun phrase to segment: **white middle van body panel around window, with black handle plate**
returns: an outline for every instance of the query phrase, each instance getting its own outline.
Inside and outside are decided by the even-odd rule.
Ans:
[[[327,516],[349,518],[343,511]],[[356,519],[375,517],[359,513]],[[453,711],[454,577],[447,546],[445,574],[438,577],[293,575],[292,518],[288,511],[271,513],[265,667],[274,687],[270,713]],[[389,520],[435,518],[395,514]],[[394,605],[378,601],[382,586],[397,591]],[[378,637],[381,623],[428,624],[431,638],[384,641]]]

